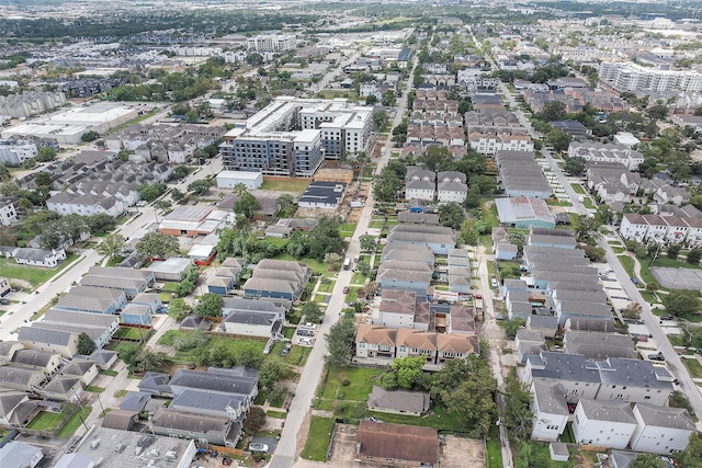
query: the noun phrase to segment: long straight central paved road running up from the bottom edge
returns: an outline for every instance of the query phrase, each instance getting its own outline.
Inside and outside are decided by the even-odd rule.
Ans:
[[[411,75],[410,75],[411,76]],[[393,126],[398,125],[401,122],[403,115],[405,113],[405,109],[407,107],[407,93],[404,93],[403,98],[399,101],[397,114],[393,122]],[[386,150],[384,151],[383,157],[378,160],[377,168],[378,170],[383,169],[390,156],[390,135],[388,135],[385,141]],[[361,252],[361,246],[359,243],[359,237],[363,236],[369,228],[369,224],[371,222],[371,218],[373,216],[373,206],[375,202],[373,198],[373,191],[371,190],[369,196],[365,202],[365,207],[361,214],[361,218],[356,224],[356,229],[353,232],[353,237],[349,242],[349,248],[347,249],[346,256],[354,258]],[[341,315],[341,310],[344,307],[346,295],[343,294],[343,287],[349,286],[351,283],[351,276],[353,276],[353,272],[350,270],[342,270],[339,272],[337,283],[331,293],[331,300],[327,306],[327,313],[325,316],[324,322],[319,328],[319,332],[317,333],[317,340],[315,345],[307,358],[307,364],[303,369],[303,374],[299,378],[299,384],[295,389],[295,397],[291,402],[287,418],[285,420],[285,426],[281,433],[281,440],[275,448],[275,453],[271,458],[270,468],[290,468],[295,464],[296,455],[302,449],[301,443],[305,440],[306,434],[301,434],[301,427],[305,418],[307,416],[308,411],[310,410],[310,406],[314,402],[315,391],[317,389],[317,385],[319,384],[319,379],[321,377],[321,372],[324,369],[324,356],[327,354],[327,341],[325,340],[325,335],[329,332],[329,329],[332,324],[335,324]]]

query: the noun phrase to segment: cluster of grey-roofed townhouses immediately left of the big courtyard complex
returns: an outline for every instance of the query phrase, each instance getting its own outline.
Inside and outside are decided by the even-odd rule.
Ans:
[[[137,124],[105,136],[105,147],[113,151],[133,151],[134,162],[168,162],[182,164],[190,161],[196,150],[214,144],[227,130],[203,125],[145,125]]]

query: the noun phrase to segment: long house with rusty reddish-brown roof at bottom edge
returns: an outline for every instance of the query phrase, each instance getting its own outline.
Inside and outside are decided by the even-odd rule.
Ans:
[[[439,434],[430,427],[361,421],[355,457],[375,466],[437,466]]]

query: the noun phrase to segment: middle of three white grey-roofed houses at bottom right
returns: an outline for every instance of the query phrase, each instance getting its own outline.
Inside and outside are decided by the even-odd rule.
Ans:
[[[636,418],[624,401],[581,399],[573,414],[573,433],[577,444],[607,448],[626,448],[636,430]]]

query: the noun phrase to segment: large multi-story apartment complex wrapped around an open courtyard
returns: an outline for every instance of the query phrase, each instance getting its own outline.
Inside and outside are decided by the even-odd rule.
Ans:
[[[281,96],[225,135],[219,147],[225,169],[265,175],[312,178],[324,159],[365,150],[371,107]]]

